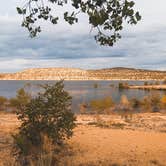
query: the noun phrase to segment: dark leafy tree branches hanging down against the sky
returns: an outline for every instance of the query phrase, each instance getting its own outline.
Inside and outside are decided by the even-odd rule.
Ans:
[[[85,13],[89,24],[97,29],[95,40],[100,45],[113,46],[121,38],[119,32],[124,22],[137,24],[141,20],[139,12],[134,11],[135,3],[130,0],[26,0],[25,5],[17,7],[17,11],[23,15],[22,26],[28,29],[31,37],[41,32],[38,20],[58,23],[59,16],[52,14],[53,7],[49,3],[62,7],[71,4],[74,11],[64,12],[64,20],[71,25],[78,22],[79,13]]]

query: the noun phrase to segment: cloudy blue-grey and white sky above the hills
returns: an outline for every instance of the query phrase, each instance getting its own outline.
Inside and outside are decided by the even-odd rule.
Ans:
[[[42,33],[30,38],[22,28],[16,6],[25,0],[1,2],[0,72],[17,72],[28,68],[74,67],[101,69],[131,67],[166,70],[166,1],[135,0],[142,16],[136,26],[126,25],[122,39],[114,47],[104,47],[94,40],[94,32],[83,15],[70,26],[42,24]],[[67,7],[68,8],[68,7]],[[69,8],[70,9],[70,8]],[[64,9],[65,10],[65,9]],[[57,9],[57,13],[62,13]]]

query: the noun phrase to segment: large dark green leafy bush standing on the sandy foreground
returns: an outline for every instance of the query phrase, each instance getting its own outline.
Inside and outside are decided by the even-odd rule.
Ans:
[[[45,137],[53,145],[62,145],[72,136],[75,116],[71,112],[71,99],[63,81],[59,81],[55,85],[44,85],[43,91],[21,108],[18,119],[22,123],[19,132],[13,135],[18,154],[41,152]]]

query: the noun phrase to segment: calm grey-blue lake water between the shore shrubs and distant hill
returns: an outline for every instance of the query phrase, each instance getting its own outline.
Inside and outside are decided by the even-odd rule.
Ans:
[[[37,85],[45,83],[54,84],[55,82],[56,81],[0,81],[0,96],[5,96],[7,98],[15,97],[16,91],[29,83],[32,85],[30,90],[35,94],[39,89]],[[65,89],[73,97],[72,109],[74,112],[78,112],[79,104],[81,103],[88,103],[93,99],[107,96],[112,96],[113,100],[118,103],[122,95],[126,95],[129,99],[134,97],[140,99],[150,93],[166,93],[165,91],[157,90],[119,90],[119,82],[127,82],[130,85],[144,84],[144,81],[65,81]],[[94,84],[97,84],[98,88],[94,88]]]

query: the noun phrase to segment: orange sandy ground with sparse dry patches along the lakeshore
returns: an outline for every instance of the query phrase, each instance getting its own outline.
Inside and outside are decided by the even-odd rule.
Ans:
[[[11,133],[19,126],[16,115],[0,114],[0,166],[11,165]],[[60,166],[164,166],[166,114],[77,115],[77,127],[67,142],[71,153]]]

